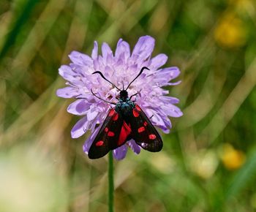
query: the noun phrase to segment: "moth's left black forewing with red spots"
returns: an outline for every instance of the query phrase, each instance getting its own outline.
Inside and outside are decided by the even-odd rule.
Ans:
[[[120,137],[121,130],[123,134],[128,135],[128,132],[123,129],[123,125],[124,119],[116,113],[115,109],[110,109],[108,116],[105,118],[105,121],[89,148],[89,158],[98,159],[108,154],[110,150],[123,145],[126,141],[126,137]]]

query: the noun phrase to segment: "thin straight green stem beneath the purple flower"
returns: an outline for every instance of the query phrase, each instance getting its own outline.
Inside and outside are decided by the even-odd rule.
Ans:
[[[113,212],[114,179],[113,179],[113,154],[108,154],[108,212]]]

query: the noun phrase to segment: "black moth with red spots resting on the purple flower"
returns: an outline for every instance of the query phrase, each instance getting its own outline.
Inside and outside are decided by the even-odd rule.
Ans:
[[[127,89],[131,84],[142,74],[144,69],[140,69],[139,74],[132,82],[129,83],[126,89],[119,89],[110,82],[102,72],[93,72],[92,74],[99,74],[101,77],[111,83],[118,91],[118,102],[108,102],[100,98],[91,90],[91,93],[104,102],[108,102],[115,107],[110,108],[108,116],[105,118],[99,132],[94,138],[91,147],[89,148],[88,156],[90,159],[98,159],[109,151],[118,148],[127,143],[128,140],[135,140],[135,143],[140,145],[146,151],[157,152],[162,149],[162,138],[160,137],[157,129],[151,124],[150,118],[146,116],[143,110],[135,101],[132,101],[132,96],[128,96]],[[148,69],[149,70],[149,69]]]

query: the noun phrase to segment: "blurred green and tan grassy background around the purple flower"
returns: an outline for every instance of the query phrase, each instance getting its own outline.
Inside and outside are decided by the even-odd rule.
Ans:
[[[256,1],[0,1],[0,211],[107,211],[108,161],[73,140],[61,64],[156,39],[181,69],[158,154],[115,162],[116,211],[256,211]]]

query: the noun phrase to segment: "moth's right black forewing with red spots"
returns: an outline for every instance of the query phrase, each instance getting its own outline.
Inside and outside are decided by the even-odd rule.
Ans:
[[[162,138],[138,105],[135,105],[127,119],[132,129],[131,136],[138,145],[147,151],[161,151]]]

